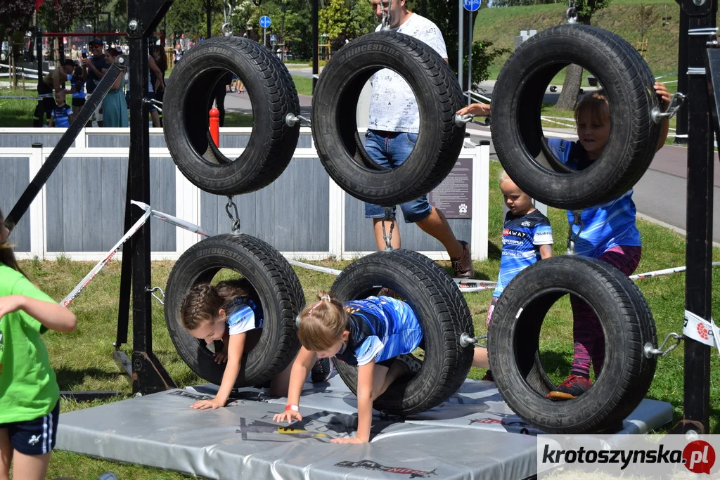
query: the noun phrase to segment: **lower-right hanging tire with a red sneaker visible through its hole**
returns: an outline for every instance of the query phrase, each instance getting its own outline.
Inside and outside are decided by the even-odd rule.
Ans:
[[[546,399],[549,381],[537,351],[543,319],[561,296],[588,302],[605,335],[605,363],[588,392],[572,400]],[[621,271],[593,258],[561,255],[526,268],[510,281],[490,322],[490,368],[508,406],[547,433],[597,433],[624,420],[652,383],[657,358],[652,313]]]

